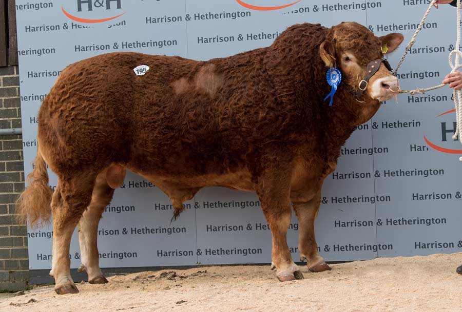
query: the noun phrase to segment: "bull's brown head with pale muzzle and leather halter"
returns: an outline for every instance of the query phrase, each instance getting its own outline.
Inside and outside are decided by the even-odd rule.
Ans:
[[[398,89],[398,79],[387,69],[388,63],[380,59],[384,54],[393,52],[402,40],[403,36],[399,33],[376,37],[362,25],[341,23],[332,27],[320,46],[319,54],[326,67],[341,70],[342,83],[347,84],[357,98],[361,97],[366,103],[374,101],[378,105],[378,102],[393,98],[396,95],[393,91]],[[373,75],[369,77],[371,73]]]

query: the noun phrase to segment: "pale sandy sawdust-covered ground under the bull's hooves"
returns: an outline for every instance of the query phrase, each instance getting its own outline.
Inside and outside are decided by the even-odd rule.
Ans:
[[[80,294],[40,287],[6,298],[0,311],[462,311],[462,253],[333,264],[304,280],[279,282],[269,266],[203,267],[78,283]],[[198,272],[199,271],[199,272]]]

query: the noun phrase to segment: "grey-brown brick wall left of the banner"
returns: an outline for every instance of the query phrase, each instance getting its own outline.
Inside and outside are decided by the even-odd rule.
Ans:
[[[0,67],[0,129],[21,128],[19,82],[17,66]],[[23,189],[22,136],[0,136],[0,290],[24,289],[29,279],[27,229],[14,212]]]

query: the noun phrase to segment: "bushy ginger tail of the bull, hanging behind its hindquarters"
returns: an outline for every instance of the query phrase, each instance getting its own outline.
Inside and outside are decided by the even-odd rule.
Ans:
[[[16,212],[18,220],[25,223],[27,219],[30,225],[43,225],[50,220],[51,216],[51,195],[53,190],[48,185],[47,164],[37,151],[34,160],[34,170],[27,176],[27,189],[16,200]]]

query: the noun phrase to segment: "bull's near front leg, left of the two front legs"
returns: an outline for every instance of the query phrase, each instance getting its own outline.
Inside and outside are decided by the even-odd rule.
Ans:
[[[286,234],[291,222],[292,209],[289,195],[290,179],[284,175],[285,172],[266,174],[258,179],[257,185],[257,194],[273,236],[272,269],[276,268],[276,276],[281,282],[303,279],[303,274],[292,261],[287,245]]]

